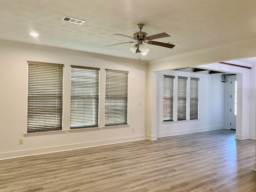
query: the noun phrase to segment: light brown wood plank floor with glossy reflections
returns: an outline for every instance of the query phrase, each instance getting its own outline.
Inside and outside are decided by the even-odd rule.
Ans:
[[[0,192],[256,192],[255,140],[216,130],[0,161]]]

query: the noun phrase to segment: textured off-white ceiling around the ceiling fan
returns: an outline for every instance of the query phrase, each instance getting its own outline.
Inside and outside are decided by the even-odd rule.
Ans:
[[[106,45],[130,41],[113,33],[132,36],[143,23],[149,35],[171,36],[156,41],[180,43],[148,45],[142,60],[156,60],[256,36],[255,10],[256,0],[0,0],[0,39],[138,59],[133,44]]]

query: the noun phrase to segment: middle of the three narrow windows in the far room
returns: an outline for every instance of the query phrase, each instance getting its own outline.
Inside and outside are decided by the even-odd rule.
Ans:
[[[187,119],[187,79],[187,77],[178,77],[178,121]]]

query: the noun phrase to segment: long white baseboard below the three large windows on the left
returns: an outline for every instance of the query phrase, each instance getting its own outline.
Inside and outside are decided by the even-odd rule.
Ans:
[[[148,139],[145,135],[0,153],[0,160]]]

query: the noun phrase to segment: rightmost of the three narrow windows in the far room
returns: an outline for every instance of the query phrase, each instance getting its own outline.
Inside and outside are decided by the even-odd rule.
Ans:
[[[199,78],[190,78],[190,120],[198,119],[198,82]]]

